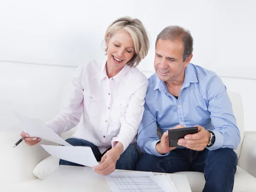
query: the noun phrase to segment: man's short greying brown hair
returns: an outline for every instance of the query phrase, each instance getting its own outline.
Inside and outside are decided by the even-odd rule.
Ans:
[[[180,26],[167,26],[158,35],[156,40],[156,47],[158,39],[177,41],[183,43],[183,61],[185,61],[193,52],[193,38],[189,30]]]

